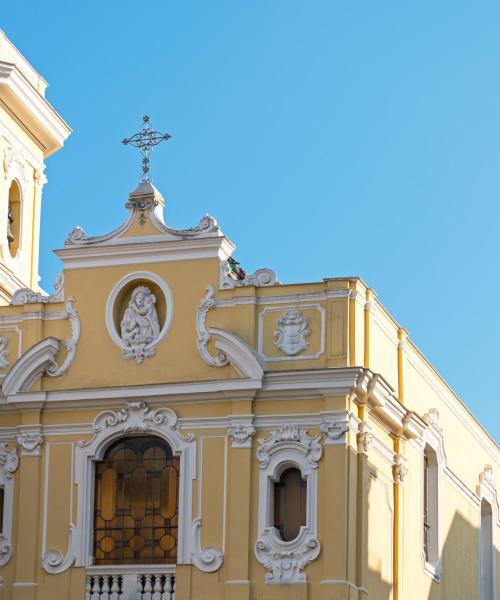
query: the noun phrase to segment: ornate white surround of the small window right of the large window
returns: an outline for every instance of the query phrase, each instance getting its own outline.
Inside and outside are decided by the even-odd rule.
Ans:
[[[323,453],[320,440],[321,436],[313,438],[295,425],[284,426],[258,440],[259,519],[255,556],[268,571],[266,583],[306,582],[304,568],[320,553],[317,539],[317,468]],[[291,466],[298,468],[307,482],[307,516],[298,536],[284,541],[272,524],[272,485]]]

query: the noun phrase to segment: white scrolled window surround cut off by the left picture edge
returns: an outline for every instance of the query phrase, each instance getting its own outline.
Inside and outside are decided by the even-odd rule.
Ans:
[[[12,556],[12,520],[14,508],[14,473],[19,466],[16,448],[7,448],[0,442],[0,486],[4,490],[3,529],[0,532],[0,566]]]

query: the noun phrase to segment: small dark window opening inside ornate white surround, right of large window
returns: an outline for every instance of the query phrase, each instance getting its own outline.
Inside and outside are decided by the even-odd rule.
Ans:
[[[307,518],[307,482],[299,469],[283,471],[274,482],[274,527],[285,542],[294,540]]]

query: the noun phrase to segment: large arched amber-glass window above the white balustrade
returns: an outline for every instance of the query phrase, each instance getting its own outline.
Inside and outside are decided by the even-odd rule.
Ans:
[[[175,564],[178,487],[179,458],[162,439],[111,445],[95,468],[95,564]]]

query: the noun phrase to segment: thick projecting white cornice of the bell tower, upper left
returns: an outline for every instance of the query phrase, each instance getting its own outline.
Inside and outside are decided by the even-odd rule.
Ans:
[[[50,156],[62,147],[71,129],[20,69],[0,61],[0,98],[16,114]]]

